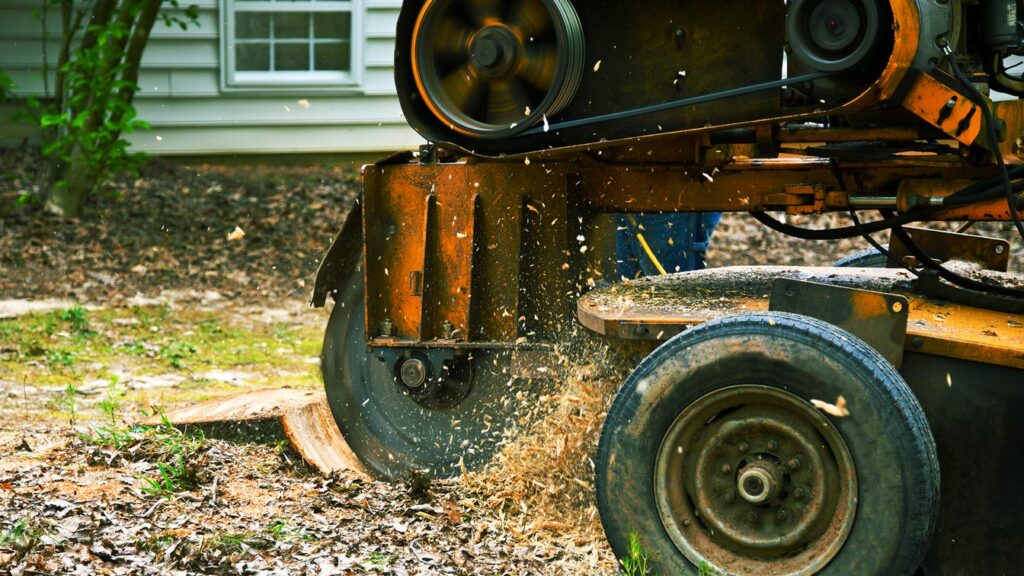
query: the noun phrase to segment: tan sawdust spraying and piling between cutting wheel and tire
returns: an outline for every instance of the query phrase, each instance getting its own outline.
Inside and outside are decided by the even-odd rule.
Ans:
[[[615,393],[643,356],[623,342],[573,337],[558,353],[559,381],[526,415],[529,423],[463,482],[514,531],[601,535],[594,492],[598,438]]]

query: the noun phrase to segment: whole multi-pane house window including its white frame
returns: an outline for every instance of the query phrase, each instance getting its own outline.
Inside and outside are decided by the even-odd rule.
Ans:
[[[359,64],[354,3],[224,0],[227,86],[354,83]]]

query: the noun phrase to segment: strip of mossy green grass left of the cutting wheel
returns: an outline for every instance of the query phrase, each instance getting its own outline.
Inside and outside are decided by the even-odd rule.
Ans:
[[[50,390],[49,402],[32,406],[32,417],[68,421],[74,408],[83,420],[110,421],[118,407],[201,401],[248,389],[206,377],[213,370],[238,371],[254,386],[318,387],[323,325],[247,322],[234,311],[132,306],[87,311],[81,306],[0,321],[0,380]],[[119,379],[118,374],[124,378]],[[173,387],[123,385],[135,376],[176,374]],[[116,392],[81,390],[105,380]],[[78,390],[70,394],[69,387]],[[72,406],[74,401],[74,406]],[[0,399],[0,408],[20,408],[23,399]]]

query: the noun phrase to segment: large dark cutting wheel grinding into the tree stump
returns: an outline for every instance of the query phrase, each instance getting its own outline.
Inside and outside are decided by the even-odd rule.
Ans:
[[[367,351],[364,269],[335,294],[324,339],[322,367],[328,402],[345,442],[377,477],[398,479],[412,470],[457,476],[464,464],[486,463],[515,428],[516,395],[542,385],[509,376],[504,353],[476,352],[457,402],[430,404],[399,383],[399,369]],[[407,371],[411,370],[408,366]]]

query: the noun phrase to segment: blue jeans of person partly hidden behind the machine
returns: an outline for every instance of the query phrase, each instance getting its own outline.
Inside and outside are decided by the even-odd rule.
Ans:
[[[643,234],[666,272],[702,270],[707,266],[711,236],[721,219],[720,212],[641,213],[633,214],[632,218],[618,215],[615,232],[618,276],[638,278],[658,274],[637,239],[638,232]]]

